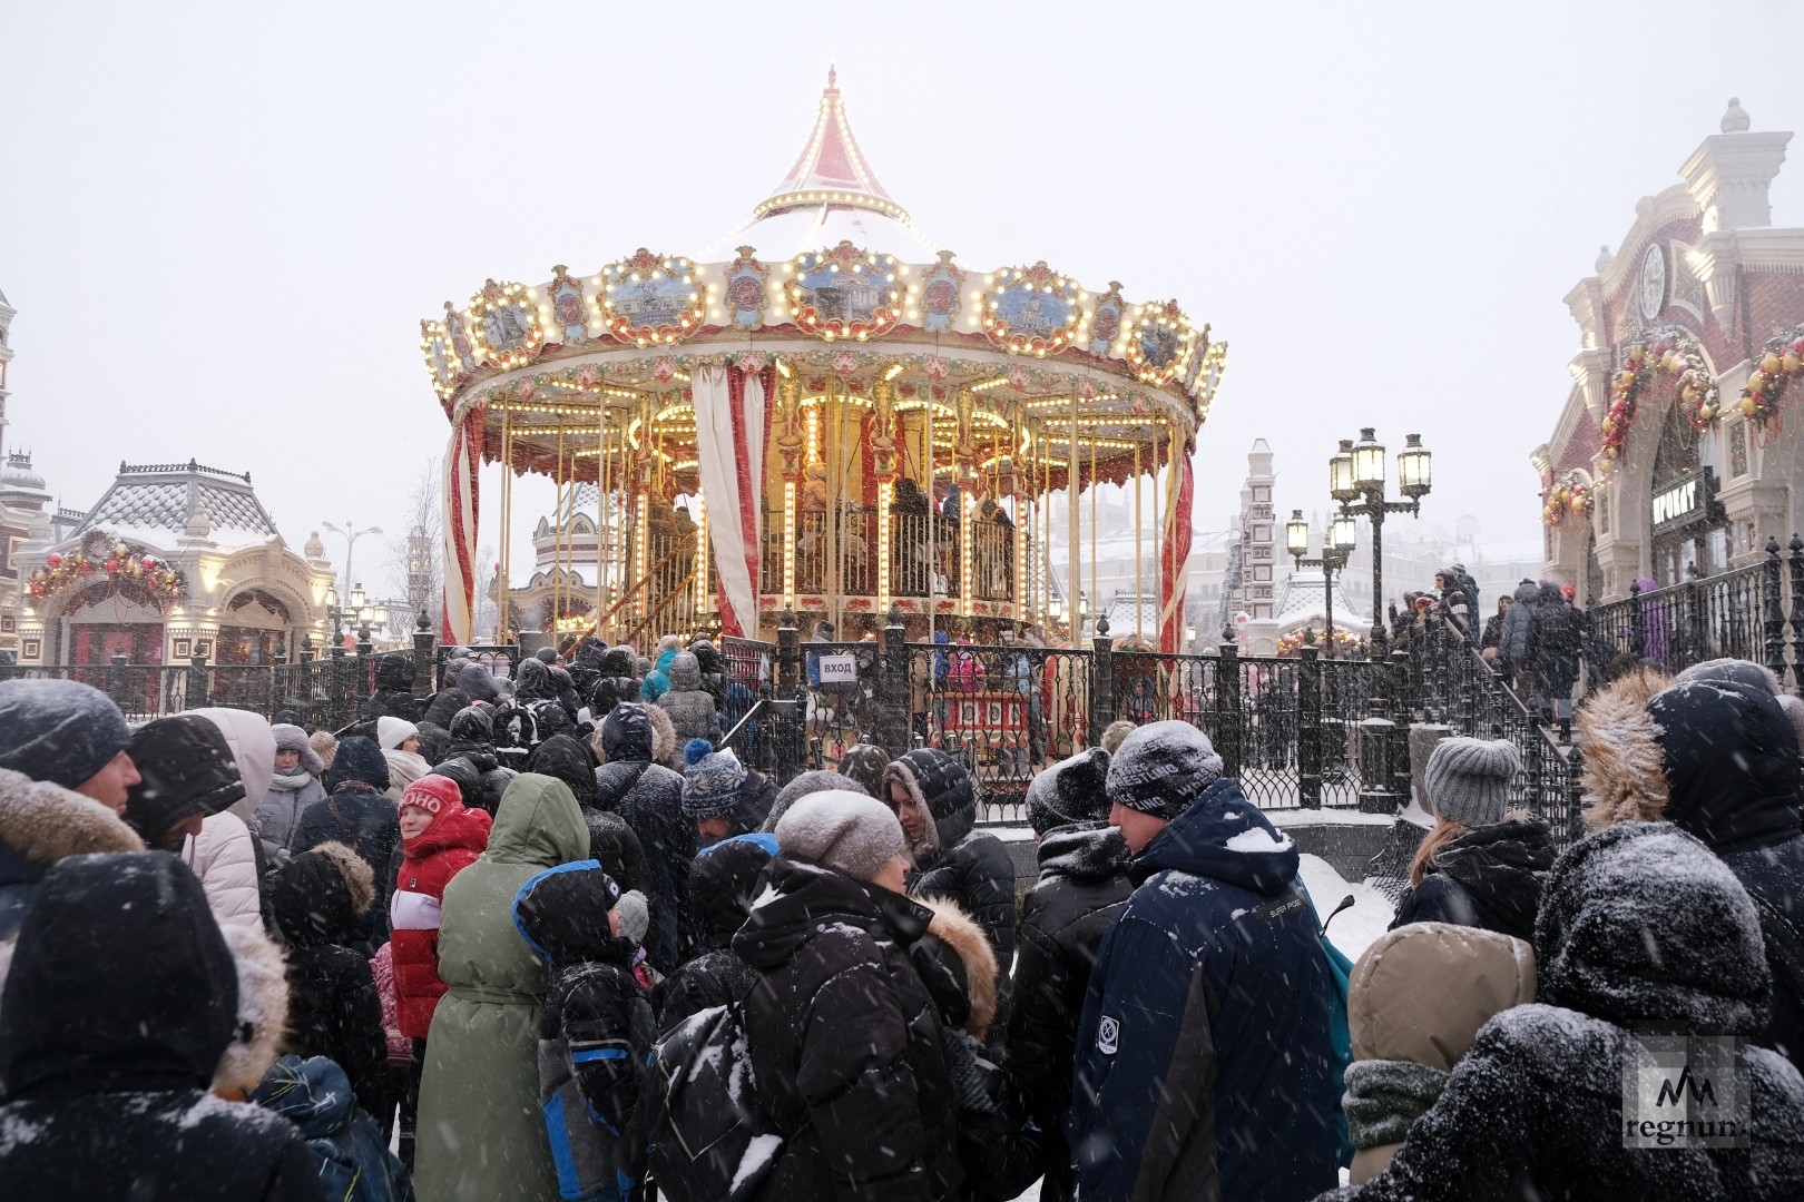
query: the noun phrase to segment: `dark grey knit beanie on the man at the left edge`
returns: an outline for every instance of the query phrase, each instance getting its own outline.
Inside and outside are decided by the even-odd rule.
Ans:
[[[78,789],[130,737],[119,706],[99,688],[63,679],[0,683],[0,768]]]

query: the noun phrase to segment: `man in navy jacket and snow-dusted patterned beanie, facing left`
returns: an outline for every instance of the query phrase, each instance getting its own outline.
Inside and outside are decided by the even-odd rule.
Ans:
[[[1187,723],[1109,760],[1135,892],[1077,1025],[1079,1198],[1286,1202],[1335,1184],[1330,979],[1297,845]]]

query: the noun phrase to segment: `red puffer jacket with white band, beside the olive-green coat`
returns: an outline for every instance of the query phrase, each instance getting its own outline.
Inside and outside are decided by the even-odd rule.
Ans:
[[[438,980],[438,915],[446,885],[489,847],[492,818],[483,809],[447,807],[400,845],[400,872],[388,905],[400,1033],[424,1040],[446,991]]]

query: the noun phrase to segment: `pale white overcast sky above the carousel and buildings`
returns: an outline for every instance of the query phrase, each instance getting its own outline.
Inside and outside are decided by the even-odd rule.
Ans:
[[[1373,423],[1436,452],[1425,519],[1533,539],[1528,452],[1577,348],[1560,297],[1728,96],[1755,130],[1804,124],[1773,52],[1797,29],[1781,0],[14,4],[7,445],[65,505],[121,458],[193,456],[253,470],[294,544],[323,519],[399,532],[446,436],[419,319],[487,276],[709,247],[837,63],[940,245],[1176,296],[1230,342],[1200,530],[1254,438],[1279,505],[1324,508],[1333,440]],[[1804,166],[1773,216],[1804,223]],[[375,587],[379,551],[357,559]]]

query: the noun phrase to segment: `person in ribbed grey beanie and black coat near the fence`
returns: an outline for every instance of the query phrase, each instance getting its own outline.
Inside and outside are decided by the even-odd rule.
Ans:
[[[1521,769],[1523,757],[1506,739],[1434,744],[1423,784],[1438,822],[1416,849],[1391,930],[1454,923],[1535,937],[1541,881],[1553,867],[1553,829],[1533,815],[1505,815],[1510,780]]]

